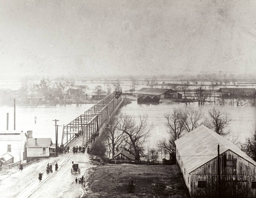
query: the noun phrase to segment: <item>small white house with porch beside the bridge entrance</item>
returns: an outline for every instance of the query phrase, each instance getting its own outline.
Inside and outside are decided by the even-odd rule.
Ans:
[[[51,138],[29,138],[27,141],[27,157],[49,157],[55,153],[55,144]]]

